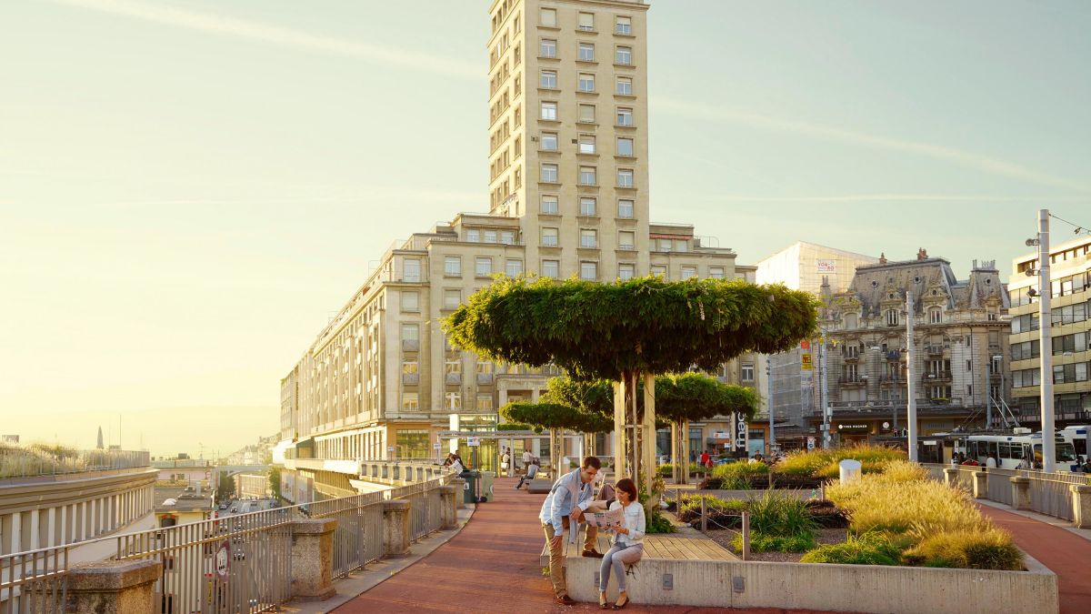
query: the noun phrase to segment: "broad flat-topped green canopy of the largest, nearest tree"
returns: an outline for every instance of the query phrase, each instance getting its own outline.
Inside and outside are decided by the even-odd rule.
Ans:
[[[553,363],[579,379],[712,370],[744,352],[791,349],[817,300],[781,284],[638,278],[597,283],[501,278],[443,322],[451,342],[495,362]]]

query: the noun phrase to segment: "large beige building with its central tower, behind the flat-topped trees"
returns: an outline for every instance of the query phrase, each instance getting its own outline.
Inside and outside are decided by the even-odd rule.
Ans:
[[[756,269],[736,265],[715,237],[649,219],[647,9],[492,5],[489,213],[457,213],[391,246],[280,381],[274,454],[314,497],[352,494],[359,459],[436,456],[451,414],[460,430],[493,430],[500,406],[537,401],[560,375],[494,364],[445,339],[442,319],[495,275],[754,281]],[[752,383],[753,371],[742,359],[719,376]],[[528,440],[517,453],[524,445],[547,452]],[[479,465],[492,468],[495,446],[482,442]]]

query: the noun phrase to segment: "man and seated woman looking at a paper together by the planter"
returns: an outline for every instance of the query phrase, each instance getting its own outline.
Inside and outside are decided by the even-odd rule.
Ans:
[[[598,458],[587,457],[578,469],[561,476],[553,483],[553,488],[546,497],[539,519],[549,544],[549,576],[553,582],[553,592],[559,603],[571,605],[575,601],[568,597],[564,580],[565,529],[570,531],[570,535],[578,533],[579,523],[587,523],[585,512],[588,511],[601,511],[607,507],[611,510],[622,510],[624,521],[620,527],[609,530],[612,534],[611,548],[604,555],[595,550],[599,530],[594,522],[589,522],[583,552],[584,556],[602,558],[599,568],[599,607],[602,610],[608,607],[607,587],[610,582],[610,570],[613,569],[620,591],[613,609],[620,610],[628,604],[628,595],[625,593],[625,565],[636,563],[644,554],[644,506],[637,498],[636,484],[627,477],[618,481],[616,500],[613,498],[596,500],[594,483],[601,467]],[[608,488],[604,487],[603,491]]]

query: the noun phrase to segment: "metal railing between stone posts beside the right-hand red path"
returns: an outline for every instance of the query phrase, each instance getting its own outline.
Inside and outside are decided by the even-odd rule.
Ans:
[[[969,491],[973,489],[973,474],[984,471],[988,475],[985,498],[1007,506],[1015,505],[1010,479],[1021,475],[1030,481],[1031,510],[1063,520],[1072,520],[1074,517],[1070,486],[1091,484],[1091,479],[1086,473],[1044,473],[1022,469],[986,469],[984,467],[943,464],[924,464],[924,468],[927,469],[931,477],[940,481],[944,480],[945,469],[958,469],[956,483]]]

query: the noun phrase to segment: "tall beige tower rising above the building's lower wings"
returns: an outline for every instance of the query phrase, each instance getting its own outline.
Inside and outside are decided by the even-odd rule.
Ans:
[[[490,209],[521,219],[529,270],[649,272],[647,10],[640,0],[490,9]]]

